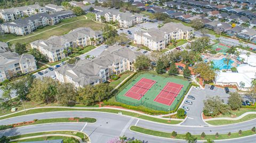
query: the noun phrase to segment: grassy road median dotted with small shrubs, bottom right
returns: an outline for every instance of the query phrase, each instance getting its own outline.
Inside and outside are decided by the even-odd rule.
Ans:
[[[161,132],[161,131],[156,131],[156,130],[150,130],[146,128],[141,128],[137,126],[131,126],[130,127],[131,131],[138,132],[138,133],[143,133],[143,134],[148,134],[151,136],[156,136],[156,137],[163,137],[163,138],[170,138],[170,139],[182,139],[185,140],[186,134],[178,134],[178,133],[172,133],[172,132]],[[173,134],[175,134],[173,136]],[[256,134],[255,128],[254,130],[246,130],[246,131],[241,131],[239,132],[234,132],[234,133],[226,133],[226,134],[218,134],[218,137],[216,134],[204,134],[204,138],[202,137],[201,134],[193,134],[197,140],[221,140],[221,139],[234,139],[234,138],[239,138],[239,137],[246,137]]]

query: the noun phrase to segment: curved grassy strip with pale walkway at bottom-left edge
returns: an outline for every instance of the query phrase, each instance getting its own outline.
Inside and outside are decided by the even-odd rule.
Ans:
[[[9,137],[10,142],[20,141],[39,141],[39,140],[53,140],[63,139],[64,142],[90,142],[88,136],[82,132],[77,131],[52,131],[52,132],[37,132],[22,134],[18,136]],[[18,141],[19,140],[19,141]]]

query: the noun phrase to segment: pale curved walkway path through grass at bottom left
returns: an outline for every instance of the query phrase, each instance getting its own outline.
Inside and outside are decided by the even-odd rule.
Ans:
[[[83,140],[81,138],[79,138],[77,136],[70,135],[70,134],[42,134],[42,135],[38,135],[38,136],[30,136],[30,137],[24,137],[24,138],[19,138],[19,139],[12,139],[12,140],[10,140],[10,142],[25,140],[25,139],[32,139],[32,138],[51,137],[51,136],[61,136],[61,137],[70,137],[70,138],[72,137],[72,138],[79,140],[80,143],[83,142]],[[88,141],[87,143],[89,143],[89,142],[90,141]]]

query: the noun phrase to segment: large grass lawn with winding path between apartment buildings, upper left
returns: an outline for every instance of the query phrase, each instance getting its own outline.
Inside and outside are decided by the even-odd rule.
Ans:
[[[80,21],[77,21],[77,20],[80,20]],[[76,21],[76,22],[73,22],[73,21]],[[61,26],[62,24],[69,23],[69,22],[73,22],[73,23]],[[61,26],[61,27],[58,27],[58,26]],[[49,30],[54,27],[58,27],[58,28]],[[31,33],[27,36],[14,36],[14,35],[5,34],[4,36],[0,37],[0,41],[6,42],[6,41],[9,41],[12,39],[25,38],[25,39],[13,40],[10,43],[11,44],[31,43],[32,41],[35,41],[38,39],[47,39],[53,35],[61,36],[61,35],[68,33],[70,30],[73,30],[73,29],[76,29],[79,27],[90,27],[93,30],[100,30],[101,27],[103,27],[103,24],[93,22],[90,19],[86,20],[84,16],[77,16],[76,18],[65,19],[61,23],[59,23],[55,26],[47,26],[45,28],[38,29],[38,30],[34,31],[35,33]],[[49,30],[49,31],[46,31],[46,30]],[[45,32],[43,32],[43,31],[45,31]],[[43,33],[36,35],[36,33],[39,33],[39,32],[43,32]],[[35,36],[33,36],[33,35],[35,35]],[[30,36],[32,36],[32,37],[30,37]]]

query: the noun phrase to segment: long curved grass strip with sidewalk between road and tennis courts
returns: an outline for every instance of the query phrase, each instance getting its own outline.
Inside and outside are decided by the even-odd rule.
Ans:
[[[154,117],[153,115],[147,115],[145,113],[140,113],[137,111],[131,111],[125,110],[125,109],[114,109],[111,107],[101,107],[101,108],[79,108],[79,107],[38,107],[34,109],[30,109],[27,111],[27,114],[35,114],[35,113],[44,113],[44,112],[57,112],[57,111],[94,111],[94,112],[107,112],[107,113],[114,113],[118,114],[119,112],[122,112],[123,115],[132,116],[132,117],[138,117],[139,119],[158,122],[158,123],[165,123],[165,124],[179,124],[183,120],[182,119],[172,119],[170,122],[168,119],[161,119],[159,117]],[[8,119],[10,117],[16,117],[16,116],[22,116],[27,115],[25,111],[20,111],[14,114],[9,114],[0,117],[0,120]]]

